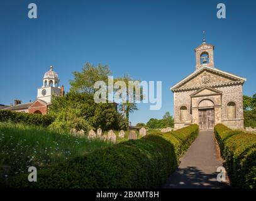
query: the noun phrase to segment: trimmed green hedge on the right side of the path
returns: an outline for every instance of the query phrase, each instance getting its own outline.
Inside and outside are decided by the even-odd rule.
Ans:
[[[231,184],[240,188],[256,187],[256,134],[233,131],[217,124],[214,133],[220,144],[221,155]]]

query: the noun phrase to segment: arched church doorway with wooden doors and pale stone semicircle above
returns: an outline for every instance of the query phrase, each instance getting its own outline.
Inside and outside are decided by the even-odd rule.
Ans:
[[[212,130],[214,128],[214,103],[209,99],[201,100],[198,104],[199,129]]]

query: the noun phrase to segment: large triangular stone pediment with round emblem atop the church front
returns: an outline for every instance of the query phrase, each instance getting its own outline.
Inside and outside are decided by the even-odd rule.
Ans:
[[[171,90],[200,89],[201,87],[216,87],[221,85],[243,84],[246,79],[212,67],[202,67],[191,73],[185,79],[174,85]]]

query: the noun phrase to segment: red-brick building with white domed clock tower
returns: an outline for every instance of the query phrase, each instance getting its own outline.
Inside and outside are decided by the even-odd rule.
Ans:
[[[64,85],[60,87],[59,84],[60,79],[58,79],[58,74],[53,71],[53,67],[50,66],[50,70],[43,76],[42,87],[37,89],[37,98],[34,102],[26,102],[22,104],[21,100],[14,100],[14,106],[4,109],[32,114],[47,114],[53,95],[63,96],[65,94]]]

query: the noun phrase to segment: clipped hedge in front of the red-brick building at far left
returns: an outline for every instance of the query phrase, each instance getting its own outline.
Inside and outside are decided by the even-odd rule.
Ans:
[[[4,121],[33,124],[37,126],[49,126],[52,123],[53,119],[48,115],[28,114],[23,112],[0,110],[0,122]]]

